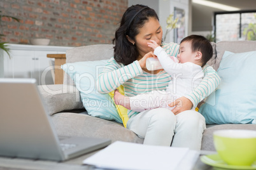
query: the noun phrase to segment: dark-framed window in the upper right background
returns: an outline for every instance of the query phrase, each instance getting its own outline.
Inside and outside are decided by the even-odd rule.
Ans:
[[[256,40],[256,11],[215,12],[216,41]]]

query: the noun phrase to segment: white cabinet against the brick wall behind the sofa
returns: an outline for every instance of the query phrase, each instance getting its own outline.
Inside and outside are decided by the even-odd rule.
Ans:
[[[47,58],[46,55],[66,53],[66,50],[72,47],[8,44],[8,48],[10,48],[11,57],[5,52],[2,53],[3,76],[5,78],[34,78],[41,85],[54,84],[52,72],[49,69],[52,59]]]

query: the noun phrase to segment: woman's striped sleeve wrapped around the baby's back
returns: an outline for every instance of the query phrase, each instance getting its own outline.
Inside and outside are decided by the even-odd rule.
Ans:
[[[192,93],[185,95],[185,98],[188,98],[194,107],[198,105],[200,101],[208,97],[215,89],[218,84],[220,84],[220,76],[210,65],[205,65],[203,67],[204,78],[203,81],[197,86],[197,88],[192,91]]]

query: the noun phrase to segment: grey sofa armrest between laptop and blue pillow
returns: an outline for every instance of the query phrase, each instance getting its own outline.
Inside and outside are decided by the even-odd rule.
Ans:
[[[63,110],[84,108],[80,92],[75,86],[67,84],[41,85],[38,86],[38,90],[49,115]]]

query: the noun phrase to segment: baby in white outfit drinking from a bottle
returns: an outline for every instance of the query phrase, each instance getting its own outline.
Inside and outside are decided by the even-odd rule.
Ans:
[[[154,49],[153,54],[157,56],[163,69],[172,77],[166,90],[150,91],[129,97],[120,94],[116,89],[115,103],[136,112],[157,107],[167,107],[172,110],[173,108],[168,106],[169,103],[192,92],[203,80],[202,67],[213,55],[213,48],[210,41],[203,36],[185,37],[180,43],[178,61],[176,61],[168,56],[157,42],[151,40],[148,42],[148,46]],[[155,56],[152,55],[152,57]]]

